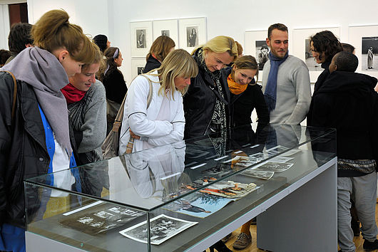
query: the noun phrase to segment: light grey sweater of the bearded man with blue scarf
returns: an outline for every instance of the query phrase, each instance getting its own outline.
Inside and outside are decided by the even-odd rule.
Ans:
[[[264,65],[262,93],[265,92],[270,61]],[[270,112],[270,123],[299,125],[305,120],[311,103],[310,75],[305,62],[295,56],[287,57],[278,68],[277,101]]]

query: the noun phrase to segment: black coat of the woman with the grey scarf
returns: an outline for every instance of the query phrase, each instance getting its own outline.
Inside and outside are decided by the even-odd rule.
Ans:
[[[0,73],[0,224],[25,228],[23,181],[46,174],[50,157],[34,90],[24,82],[17,83],[15,120],[11,125],[14,83],[10,75]],[[38,207],[38,199],[31,205]]]

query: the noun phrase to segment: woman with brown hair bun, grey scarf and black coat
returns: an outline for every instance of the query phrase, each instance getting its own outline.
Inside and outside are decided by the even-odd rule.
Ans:
[[[11,74],[0,73],[0,251],[25,251],[23,181],[76,166],[61,88],[81,72],[81,65],[93,61],[95,48],[68,19],[61,10],[41,16],[31,29],[35,47],[0,69],[17,81],[14,96]],[[61,188],[71,189],[75,174],[67,172],[64,179]],[[58,178],[51,180],[51,185],[57,183]],[[28,203],[38,210],[42,196],[33,195],[35,201],[28,197]]]

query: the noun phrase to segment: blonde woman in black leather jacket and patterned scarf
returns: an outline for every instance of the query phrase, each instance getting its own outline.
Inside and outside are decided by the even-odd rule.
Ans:
[[[220,70],[235,61],[237,46],[233,38],[218,36],[192,54],[199,71],[184,96],[185,139],[227,129],[230,91]]]

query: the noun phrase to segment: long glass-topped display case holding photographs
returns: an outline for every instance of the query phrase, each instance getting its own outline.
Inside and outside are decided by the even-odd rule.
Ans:
[[[332,129],[247,126],[29,179],[24,184],[26,248],[203,251],[258,216],[257,246],[272,250],[270,229],[278,230],[280,222],[273,217],[299,216],[296,211],[307,207],[329,216],[325,221],[332,233],[335,140]],[[314,195],[301,191],[307,184]],[[277,214],[275,206],[282,202],[287,209]],[[319,204],[328,204],[327,209],[318,209]],[[264,233],[270,233],[269,241]]]

